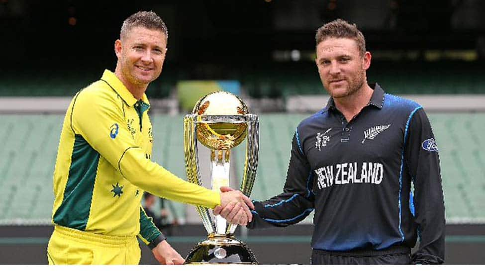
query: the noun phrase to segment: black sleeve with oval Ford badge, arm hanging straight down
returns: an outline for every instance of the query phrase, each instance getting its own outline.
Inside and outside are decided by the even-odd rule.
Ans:
[[[414,184],[414,221],[420,236],[414,263],[442,264],[445,257],[445,205],[438,149],[428,117],[418,109],[408,127],[405,160]]]

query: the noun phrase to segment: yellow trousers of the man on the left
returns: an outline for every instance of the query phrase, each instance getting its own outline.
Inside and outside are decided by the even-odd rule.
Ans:
[[[49,265],[138,265],[141,251],[135,236],[116,237],[55,226]]]

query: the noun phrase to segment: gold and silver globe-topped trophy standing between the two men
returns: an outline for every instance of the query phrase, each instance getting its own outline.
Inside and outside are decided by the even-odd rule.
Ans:
[[[246,140],[246,161],[240,190],[249,196],[258,166],[258,116],[249,114],[246,104],[236,95],[218,91],[200,98],[192,114],[184,118],[184,151],[187,179],[202,185],[199,173],[197,141],[210,150],[212,189],[229,186],[231,149]],[[202,161],[208,159],[202,158]],[[186,264],[257,264],[253,253],[234,238],[236,226],[220,215],[213,217],[207,207],[196,206],[207,231],[186,258]]]

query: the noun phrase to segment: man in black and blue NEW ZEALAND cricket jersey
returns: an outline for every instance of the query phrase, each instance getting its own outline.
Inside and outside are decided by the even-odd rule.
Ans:
[[[248,227],[285,227],[315,210],[312,264],[443,263],[438,149],[423,108],[367,83],[372,55],[355,24],[328,22],[315,41],[331,98],[296,128],[283,193],[255,202]]]

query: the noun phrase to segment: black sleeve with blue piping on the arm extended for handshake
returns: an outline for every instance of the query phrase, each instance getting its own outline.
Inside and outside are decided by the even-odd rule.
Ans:
[[[302,153],[297,134],[291,143],[291,158],[283,193],[266,201],[255,201],[253,220],[248,228],[286,227],[303,220],[313,211],[310,166]]]

